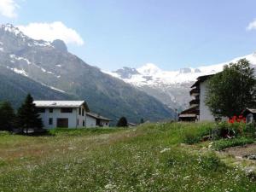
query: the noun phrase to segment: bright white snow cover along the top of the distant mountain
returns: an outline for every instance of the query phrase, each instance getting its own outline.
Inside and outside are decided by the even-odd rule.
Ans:
[[[221,72],[224,65],[230,62],[236,62],[241,58],[246,58],[252,65],[256,65],[256,53],[238,57],[229,62],[219,63],[217,65],[202,66],[197,68],[187,67],[177,71],[164,71],[152,63],[148,63],[143,67],[132,69],[137,73],[131,74],[131,68],[124,67],[115,72],[107,72],[113,77],[123,79],[125,82],[136,86],[143,85],[162,85],[162,84],[184,84],[194,82],[199,76],[214,74]],[[119,73],[122,71],[122,73]],[[126,72],[126,73],[125,73]]]

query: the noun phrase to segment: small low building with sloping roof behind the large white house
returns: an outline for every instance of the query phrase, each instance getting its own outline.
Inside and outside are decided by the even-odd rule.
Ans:
[[[86,127],[106,127],[109,126],[111,119],[105,118],[96,113],[86,113]]]

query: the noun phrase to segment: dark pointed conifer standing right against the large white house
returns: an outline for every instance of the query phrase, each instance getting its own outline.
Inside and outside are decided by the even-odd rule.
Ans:
[[[23,132],[28,129],[42,129],[43,122],[39,118],[39,114],[35,104],[33,103],[33,98],[30,94],[26,96],[25,102],[20,106],[17,113],[17,125]]]

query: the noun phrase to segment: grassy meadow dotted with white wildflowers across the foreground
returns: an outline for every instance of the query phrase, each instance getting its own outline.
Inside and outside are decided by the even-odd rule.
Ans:
[[[255,191],[211,150],[183,144],[212,124],[0,135],[0,191]]]

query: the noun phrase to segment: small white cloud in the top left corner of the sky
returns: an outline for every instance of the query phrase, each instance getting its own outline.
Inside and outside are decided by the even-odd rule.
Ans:
[[[0,0],[0,14],[5,17],[15,18],[17,8],[19,5],[14,0]]]

